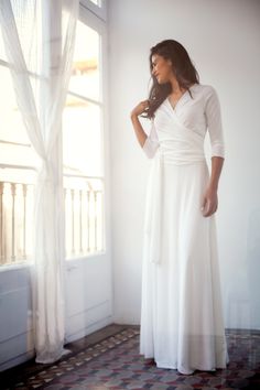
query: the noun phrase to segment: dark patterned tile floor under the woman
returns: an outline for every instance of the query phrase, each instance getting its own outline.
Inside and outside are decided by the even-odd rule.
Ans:
[[[184,376],[139,355],[139,329],[130,327],[4,389],[259,390],[260,334],[230,331],[227,340],[227,369]]]

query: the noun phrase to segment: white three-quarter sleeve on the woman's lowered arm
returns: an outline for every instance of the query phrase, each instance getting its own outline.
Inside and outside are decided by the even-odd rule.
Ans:
[[[212,156],[225,158],[220,104],[216,90],[210,87],[206,100],[206,122],[212,144]]]

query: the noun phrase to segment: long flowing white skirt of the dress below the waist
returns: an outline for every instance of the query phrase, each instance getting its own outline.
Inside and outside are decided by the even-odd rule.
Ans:
[[[147,188],[140,353],[187,375],[228,359],[215,216],[201,209],[208,180],[205,159],[158,153]]]

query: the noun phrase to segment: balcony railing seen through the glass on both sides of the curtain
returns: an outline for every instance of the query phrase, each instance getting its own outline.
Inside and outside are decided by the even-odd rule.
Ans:
[[[104,182],[65,175],[66,259],[102,252]],[[0,266],[32,261],[34,185],[0,181]]]

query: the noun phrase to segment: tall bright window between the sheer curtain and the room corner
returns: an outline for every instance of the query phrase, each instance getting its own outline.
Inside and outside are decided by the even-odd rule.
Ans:
[[[78,21],[63,117],[66,256],[104,250],[101,36]]]

